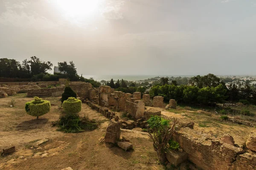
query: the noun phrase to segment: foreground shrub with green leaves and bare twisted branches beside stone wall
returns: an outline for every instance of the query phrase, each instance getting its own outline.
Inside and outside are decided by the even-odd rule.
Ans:
[[[166,162],[166,145],[169,144],[169,141],[172,138],[177,122],[177,119],[174,118],[171,125],[169,120],[163,119],[160,116],[151,116],[151,118],[148,119],[148,125],[153,131],[153,133],[149,132],[148,136],[153,141],[154,150],[157,152],[157,156],[161,163]]]

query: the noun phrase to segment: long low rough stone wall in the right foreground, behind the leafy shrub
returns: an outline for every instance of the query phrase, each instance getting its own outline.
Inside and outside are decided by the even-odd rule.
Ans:
[[[240,147],[235,147],[218,140],[211,140],[207,134],[198,134],[198,132],[189,128],[184,128],[184,131],[175,132],[174,139],[188,153],[188,159],[203,170],[233,169],[233,162],[236,161],[237,155],[244,153],[244,150]],[[239,167],[241,166],[240,164],[241,161],[237,162],[236,166]]]

